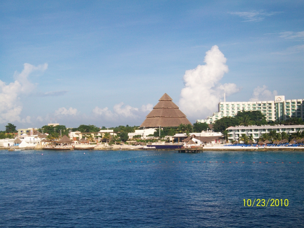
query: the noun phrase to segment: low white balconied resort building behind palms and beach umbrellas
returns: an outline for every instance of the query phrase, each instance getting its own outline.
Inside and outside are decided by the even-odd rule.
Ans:
[[[250,134],[253,136],[254,140],[257,139],[264,133],[268,133],[269,131],[276,131],[277,133],[286,132],[287,134],[295,133],[296,131],[303,131],[304,125],[262,125],[262,126],[236,126],[236,127],[228,127],[226,129],[228,131],[228,140],[235,141],[239,140],[242,134],[246,134],[249,136]]]

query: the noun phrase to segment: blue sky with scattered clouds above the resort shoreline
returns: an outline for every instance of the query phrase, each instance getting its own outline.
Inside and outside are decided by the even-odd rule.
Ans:
[[[254,91],[263,100],[304,98],[303,1],[0,5],[0,130],[50,118],[67,127],[140,125],[165,92],[177,105],[185,98],[180,109],[194,123],[216,111],[226,83],[234,86],[227,101],[249,101]],[[183,97],[185,71],[206,64],[214,45],[229,71],[212,88],[204,82],[212,71],[198,74],[193,99]],[[195,109],[210,89],[212,103]]]

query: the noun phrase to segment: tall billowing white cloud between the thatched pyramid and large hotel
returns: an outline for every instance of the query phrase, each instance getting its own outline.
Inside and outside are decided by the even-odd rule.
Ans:
[[[206,52],[205,65],[185,72],[185,87],[181,90],[180,109],[189,117],[205,118],[214,112],[220,98],[240,91],[234,83],[220,84],[224,74],[228,72],[226,58],[214,45]]]

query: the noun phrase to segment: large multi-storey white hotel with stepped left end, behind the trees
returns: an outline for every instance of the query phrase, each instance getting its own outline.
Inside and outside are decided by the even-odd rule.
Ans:
[[[292,117],[304,119],[304,99],[285,100],[285,96],[275,96],[274,101],[219,102],[218,111],[197,123],[212,124],[224,116],[235,116],[237,112],[261,111],[267,121],[286,120]]]

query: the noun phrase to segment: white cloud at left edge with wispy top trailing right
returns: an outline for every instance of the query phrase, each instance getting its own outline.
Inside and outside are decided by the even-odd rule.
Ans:
[[[15,81],[6,85],[0,80],[0,123],[18,121],[20,123],[29,123],[30,117],[21,119],[19,116],[22,106],[19,104],[19,95],[28,94],[33,91],[35,85],[28,80],[28,77],[34,71],[45,71],[47,64],[37,67],[25,63],[21,73],[15,71]]]

